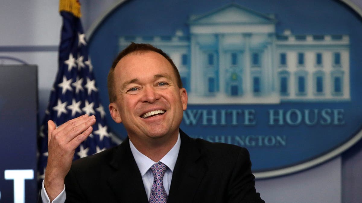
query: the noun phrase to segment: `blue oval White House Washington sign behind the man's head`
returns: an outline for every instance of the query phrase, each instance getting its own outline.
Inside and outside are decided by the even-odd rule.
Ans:
[[[360,33],[361,17],[341,1],[130,0],[91,30],[90,54],[108,105],[117,53],[130,42],[161,48],[189,94],[181,129],[248,148],[265,178],[312,167],[361,138]]]

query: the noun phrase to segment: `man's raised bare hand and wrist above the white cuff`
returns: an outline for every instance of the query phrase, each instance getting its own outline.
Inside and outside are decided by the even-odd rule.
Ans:
[[[70,170],[75,149],[92,133],[96,117],[83,115],[56,128],[48,121],[48,163],[44,186],[50,202],[64,189],[64,178]]]

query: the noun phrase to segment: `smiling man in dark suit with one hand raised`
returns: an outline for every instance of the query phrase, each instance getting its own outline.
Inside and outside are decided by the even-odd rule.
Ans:
[[[58,128],[49,121],[43,201],[264,202],[245,148],[193,139],[179,129],[188,96],[163,51],[131,43],[113,62],[108,91],[111,117],[123,122],[128,138],[71,163],[94,116]]]

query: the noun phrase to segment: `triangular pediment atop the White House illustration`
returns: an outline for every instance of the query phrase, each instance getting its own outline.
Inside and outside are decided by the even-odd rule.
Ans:
[[[210,24],[275,24],[273,16],[258,13],[241,5],[232,3],[202,15],[192,15],[190,25]]]

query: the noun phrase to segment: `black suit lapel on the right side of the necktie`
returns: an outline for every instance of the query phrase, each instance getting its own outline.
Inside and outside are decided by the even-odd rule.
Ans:
[[[172,174],[168,203],[193,199],[207,170],[205,157],[195,146],[194,139],[180,130],[181,146]]]

